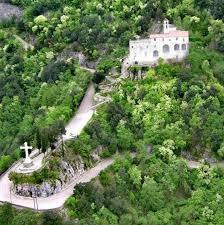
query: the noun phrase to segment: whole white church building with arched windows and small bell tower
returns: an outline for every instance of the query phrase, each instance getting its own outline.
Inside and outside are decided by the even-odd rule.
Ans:
[[[129,42],[129,57],[126,62],[129,66],[152,66],[157,64],[159,58],[166,62],[179,62],[186,58],[188,52],[189,32],[177,30],[165,19],[162,33]]]

